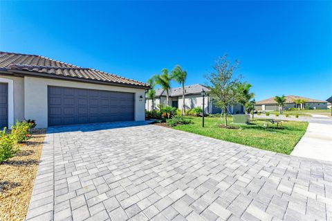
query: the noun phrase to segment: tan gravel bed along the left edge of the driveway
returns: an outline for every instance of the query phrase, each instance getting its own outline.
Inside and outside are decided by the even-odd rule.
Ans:
[[[0,163],[0,220],[26,218],[45,134],[44,129],[33,130],[16,156]]]

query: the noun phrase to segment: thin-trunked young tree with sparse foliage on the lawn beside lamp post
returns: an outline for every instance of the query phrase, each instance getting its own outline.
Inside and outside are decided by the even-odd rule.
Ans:
[[[211,88],[210,94],[216,101],[216,105],[225,113],[225,126],[227,127],[228,106],[239,102],[239,78],[233,78],[233,72],[238,69],[239,62],[231,63],[227,55],[219,57],[214,64],[214,71],[205,76]]]

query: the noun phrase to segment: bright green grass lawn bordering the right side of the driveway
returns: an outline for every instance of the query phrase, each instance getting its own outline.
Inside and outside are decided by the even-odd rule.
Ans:
[[[276,127],[266,129],[264,119],[255,119],[250,125],[238,125],[239,129],[225,129],[218,127],[223,123],[221,118],[205,117],[205,127],[202,127],[201,117],[187,118],[194,123],[173,128],[283,154],[291,154],[308,126],[306,122],[284,121],[282,129]],[[229,118],[229,122],[232,122],[232,118]],[[230,125],[234,124],[230,123]]]

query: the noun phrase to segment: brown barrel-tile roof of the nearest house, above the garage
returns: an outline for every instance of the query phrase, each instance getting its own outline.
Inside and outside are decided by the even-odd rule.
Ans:
[[[31,73],[44,73],[53,76],[80,78],[98,82],[109,82],[121,85],[149,87],[149,85],[122,78],[111,73],[95,69],[82,68],[73,64],[59,62],[40,55],[26,55],[21,53],[8,53],[0,51],[0,69],[10,71],[30,71]]]

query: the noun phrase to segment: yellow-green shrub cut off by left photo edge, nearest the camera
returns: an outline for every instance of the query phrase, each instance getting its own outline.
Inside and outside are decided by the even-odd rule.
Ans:
[[[1,131],[0,137],[0,162],[6,161],[10,157],[14,157],[19,148],[17,148],[15,140],[11,134],[6,133],[6,128]]]

